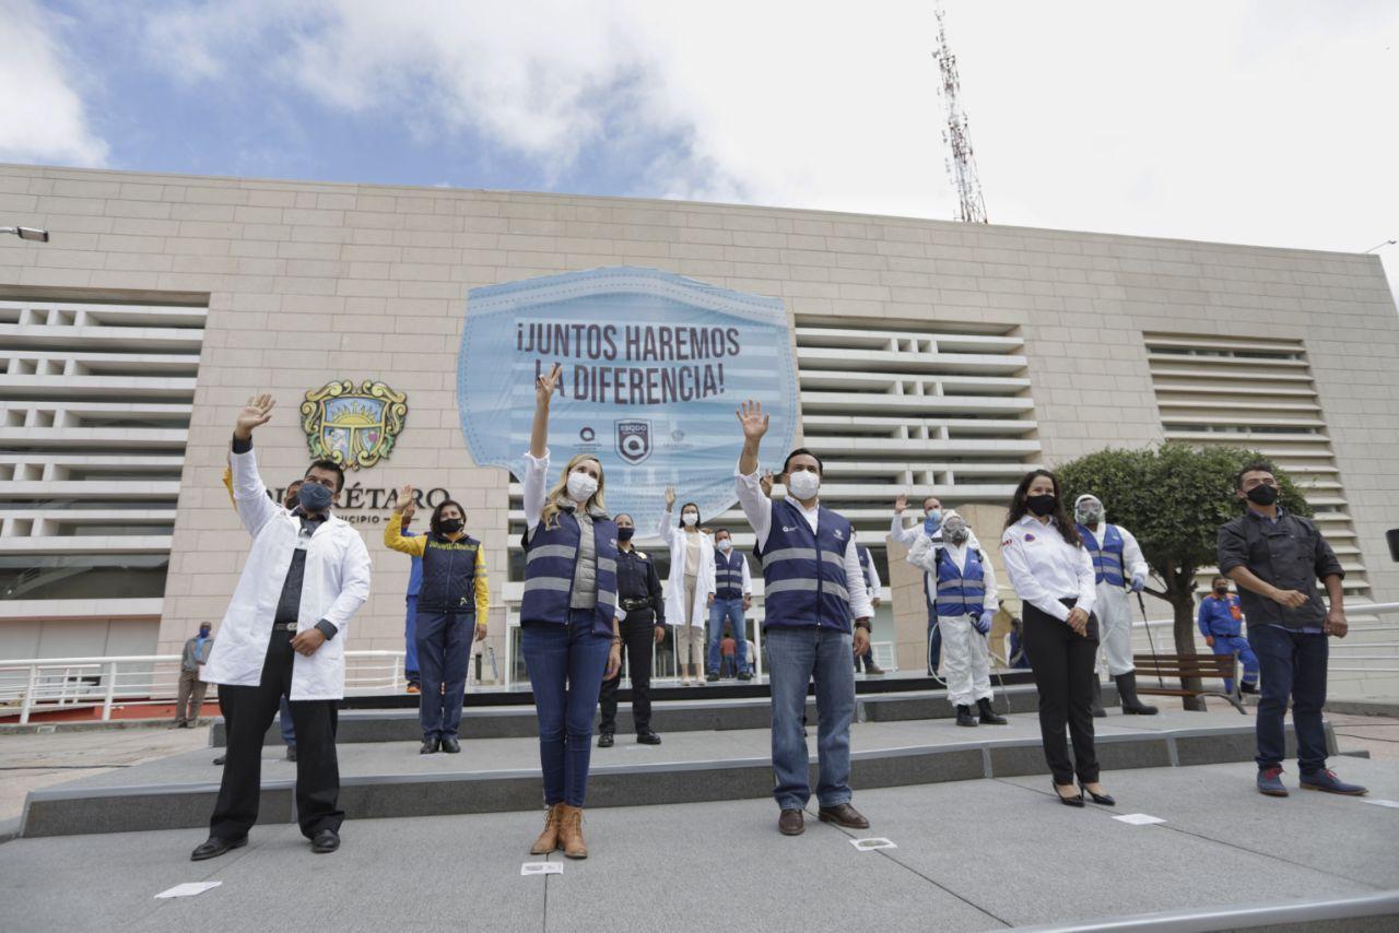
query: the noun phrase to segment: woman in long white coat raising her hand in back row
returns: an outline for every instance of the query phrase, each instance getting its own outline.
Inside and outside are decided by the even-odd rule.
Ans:
[[[700,506],[680,506],[673,522],[676,490],[666,490],[666,512],[660,516],[660,540],[670,547],[670,576],[666,579],[666,621],[676,634],[676,670],[680,683],[704,685],[704,624],[709,618],[713,592],[713,541],[700,530]]]

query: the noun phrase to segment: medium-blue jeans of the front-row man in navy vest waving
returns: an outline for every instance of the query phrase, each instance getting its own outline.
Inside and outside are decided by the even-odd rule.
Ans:
[[[816,680],[816,799],[823,807],[851,800],[851,718],[855,713],[855,669],[851,634],[834,628],[764,631],[768,680],[772,687],[772,796],[783,810],[800,810],[811,799],[810,761],[802,726],[806,685]]]

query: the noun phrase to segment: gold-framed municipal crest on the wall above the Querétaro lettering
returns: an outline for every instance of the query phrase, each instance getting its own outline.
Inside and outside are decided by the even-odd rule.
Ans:
[[[316,460],[346,470],[371,467],[389,456],[409,417],[409,397],[382,382],[327,382],[301,403],[301,429]]]

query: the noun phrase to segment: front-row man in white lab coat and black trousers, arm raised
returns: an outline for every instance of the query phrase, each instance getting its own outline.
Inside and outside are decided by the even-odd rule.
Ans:
[[[344,473],[329,460],[306,470],[298,505],[267,497],[253,429],[271,420],[271,396],[249,399],[234,427],[234,501],[253,537],[203,680],[228,691],[238,715],[208,839],[190,857],[213,859],[248,842],[257,821],[263,734],[283,692],[297,727],[297,820],[312,852],[340,848],[340,767],[333,715],[344,695],[346,627],[369,596],[369,551],[330,513]]]

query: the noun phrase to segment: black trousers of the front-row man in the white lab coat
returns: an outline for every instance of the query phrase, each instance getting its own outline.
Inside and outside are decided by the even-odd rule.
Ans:
[[[263,659],[262,683],[256,687],[218,688],[227,692],[228,750],[218,803],[208,821],[208,834],[220,839],[246,835],[257,822],[262,792],[263,736],[271,726],[281,695],[291,691],[295,632],[273,631]],[[336,701],[297,699],[290,704],[297,729],[297,821],[308,839],[322,829],[340,829],[344,810],[339,809],[340,764],[336,758]]]

